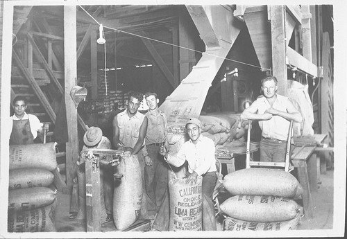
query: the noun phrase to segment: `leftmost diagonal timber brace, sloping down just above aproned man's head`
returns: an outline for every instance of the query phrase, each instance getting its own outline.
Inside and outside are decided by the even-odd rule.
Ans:
[[[42,92],[40,86],[37,85],[37,82],[35,81],[33,76],[31,76],[31,74],[28,72],[28,70],[24,67],[24,64],[19,59],[19,56],[17,55],[17,53],[15,51],[12,51],[12,55],[15,58],[15,61],[17,62],[19,69],[22,71],[22,73],[26,77],[26,80],[28,80],[29,84],[31,85],[31,87],[35,91],[37,98],[39,98],[40,102],[42,103],[42,105],[43,105],[44,109],[46,110],[46,112],[48,113],[49,117],[51,118],[53,123],[56,123],[56,113],[54,113],[51,105],[49,104],[49,101],[47,100],[46,96],[44,96],[44,93]]]

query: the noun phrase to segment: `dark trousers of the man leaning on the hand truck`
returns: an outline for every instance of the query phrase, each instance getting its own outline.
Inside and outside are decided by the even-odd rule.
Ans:
[[[294,150],[294,145],[290,147],[290,153]],[[262,137],[260,141],[260,161],[264,162],[284,162],[287,151],[287,141]]]

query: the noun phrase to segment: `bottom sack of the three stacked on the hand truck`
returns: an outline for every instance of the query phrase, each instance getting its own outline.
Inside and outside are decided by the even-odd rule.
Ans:
[[[296,230],[300,223],[300,215],[282,222],[249,222],[226,217],[223,222],[223,231],[289,231]]]

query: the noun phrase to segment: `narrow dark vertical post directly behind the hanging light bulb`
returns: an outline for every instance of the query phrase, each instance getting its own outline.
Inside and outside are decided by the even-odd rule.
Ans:
[[[98,51],[96,45],[96,30],[92,30],[90,35],[90,74],[92,80],[92,99],[98,98]]]

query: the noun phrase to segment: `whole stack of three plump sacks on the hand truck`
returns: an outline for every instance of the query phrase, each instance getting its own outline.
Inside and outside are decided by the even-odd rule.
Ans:
[[[301,222],[302,207],[294,199],[303,188],[289,172],[237,170],[224,177],[223,186],[232,195],[220,205],[224,231],[294,230]]]

